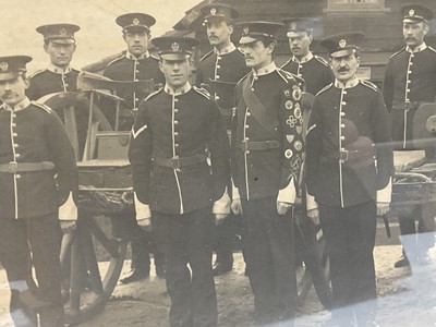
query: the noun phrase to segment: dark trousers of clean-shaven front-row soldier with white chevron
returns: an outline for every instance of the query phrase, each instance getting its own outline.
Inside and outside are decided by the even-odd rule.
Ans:
[[[167,258],[171,326],[217,326],[217,298],[211,270],[211,207],[183,215],[153,211],[152,217],[159,249],[165,249]]]

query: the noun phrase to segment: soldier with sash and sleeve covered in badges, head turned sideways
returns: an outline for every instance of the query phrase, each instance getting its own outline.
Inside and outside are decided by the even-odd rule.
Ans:
[[[295,313],[292,209],[304,152],[299,86],[304,82],[272,60],[282,24],[241,25],[241,49],[252,72],[235,88],[232,210],[246,220],[245,262],[255,323],[262,325]]]

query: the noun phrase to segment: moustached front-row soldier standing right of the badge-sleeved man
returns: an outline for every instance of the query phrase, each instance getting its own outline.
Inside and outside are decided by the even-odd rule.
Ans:
[[[307,192],[319,206],[330,259],[331,326],[377,326],[374,242],[393,170],[382,93],[355,75],[362,33],[322,40],[336,76],[315,97],[306,136]]]

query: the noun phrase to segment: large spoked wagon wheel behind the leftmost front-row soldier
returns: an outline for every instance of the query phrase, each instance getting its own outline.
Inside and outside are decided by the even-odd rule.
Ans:
[[[105,114],[95,104],[90,106],[84,94],[58,93],[40,100],[65,123],[77,158],[93,143],[89,140],[95,138],[97,130],[111,131]],[[92,121],[88,121],[89,108],[93,108]],[[84,122],[89,126],[85,133],[81,126]],[[89,318],[104,307],[117,286],[126,252],[126,242],[113,238],[108,223],[102,223],[107,217],[81,206],[78,213],[76,231],[63,235],[61,249],[63,296],[68,300],[65,320],[71,325]],[[106,262],[98,263],[97,255]]]

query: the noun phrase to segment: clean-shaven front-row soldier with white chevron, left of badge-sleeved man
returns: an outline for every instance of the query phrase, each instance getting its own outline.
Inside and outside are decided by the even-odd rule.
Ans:
[[[153,220],[166,251],[171,326],[216,326],[211,233],[230,211],[228,138],[209,94],[187,82],[197,40],[153,43],[166,85],[141,104],[132,130],[136,219],[142,227]]]

